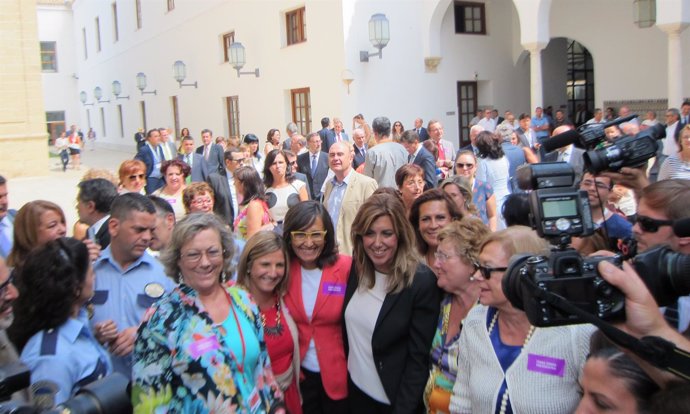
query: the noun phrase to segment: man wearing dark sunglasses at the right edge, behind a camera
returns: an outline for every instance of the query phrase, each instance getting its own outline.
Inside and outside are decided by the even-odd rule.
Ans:
[[[637,252],[666,245],[690,254],[690,237],[676,236],[672,227],[674,221],[686,217],[690,217],[690,180],[662,180],[643,188],[633,226]],[[664,317],[678,331],[685,331],[690,325],[690,297],[681,297],[666,307]]]

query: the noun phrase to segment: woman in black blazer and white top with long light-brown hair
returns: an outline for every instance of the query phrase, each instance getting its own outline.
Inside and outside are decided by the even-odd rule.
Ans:
[[[371,196],[352,225],[345,347],[352,413],[421,413],[440,310],[436,277],[416,253],[394,196]]]

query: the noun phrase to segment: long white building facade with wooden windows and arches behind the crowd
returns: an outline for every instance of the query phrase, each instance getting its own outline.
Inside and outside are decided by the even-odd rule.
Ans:
[[[84,131],[93,127],[100,144],[133,149],[139,128],[264,139],[292,121],[303,132],[318,130],[324,116],[349,130],[358,113],[405,127],[417,117],[438,119],[457,145],[478,107],[515,114],[535,106],[572,111],[576,102],[590,110],[611,102],[679,107],[690,96],[690,0],[652,1],[656,20],[643,29],[633,19],[640,3],[76,0],[61,14],[69,23],[40,29],[41,41],[62,39],[58,53],[71,36],[64,53],[74,59],[73,67],[60,63],[59,81],[44,75],[46,108],[59,109],[51,101],[59,97],[66,117]],[[376,51],[368,29],[376,13],[388,19],[390,41],[381,58],[361,62],[360,51]],[[226,61],[232,40],[246,52],[248,74],[239,77]],[[589,63],[574,80],[578,45]],[[178,60],[185,86],[173,77]],[[138,73],[146,75],[143,90]]]

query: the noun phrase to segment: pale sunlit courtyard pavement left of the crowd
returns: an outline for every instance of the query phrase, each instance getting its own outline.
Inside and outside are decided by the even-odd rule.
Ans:
[[[80,170],[73,170],[71,164],[67,171],[62,171],[60,158],[49,158],[48,174],[40,177],[10,178],[8,182],[10,208],[19,210],[21,206],[31,200],[49,200],[65,212],[67,219],[67,235],[72,234],[72,226],[77,221],[75,200],[77,198],[77,184],[90,168],[107,169],[117,177],[120,163],[134,156],[134,150],[123,152],[96,146],[87,147],[82,151],[82,165]]]

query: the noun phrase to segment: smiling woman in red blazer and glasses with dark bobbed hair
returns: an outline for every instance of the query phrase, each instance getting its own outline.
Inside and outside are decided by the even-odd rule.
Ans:
[[[342,308],[350,256],[338,254],[333,222],[317,201],[292,207],[283,238],[290,256],[285,304],[299,331],[305,413],[347,412]]]

